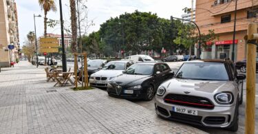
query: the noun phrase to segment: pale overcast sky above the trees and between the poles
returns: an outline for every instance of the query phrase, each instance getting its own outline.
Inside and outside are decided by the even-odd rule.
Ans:
[[[59,0],[56,0],[57,12],[49,12],[47,18],[60,20],[59,14]],[[86,0],[84,0],[86,1]],[[26,38],[29,31],[34,31],[33,14],[41,14],[43,11],[39,7],[38,0],[16,0],[18,18],[19,18],[19,33],[20,44]],[[64,21],[69,21],[69,0],[62,0],[63,18]],[[170,16],[181,17],[184,12],[183,8],[191,8],[191,0],[87,0],[88,19],[93,20],[93,26],[89,27],[88,33],[98,31],[100,24],[105,23],[111,17],[119,16],[125,12],[153,12],[157,13],[159,17],[170,19]],[[54,28],[47,27],[47,33],[60,34],[60,26]],[[43,17],[36,18],[36,34],[43,35]]]

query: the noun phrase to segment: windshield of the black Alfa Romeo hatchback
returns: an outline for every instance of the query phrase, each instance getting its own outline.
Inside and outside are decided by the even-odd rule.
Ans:
[[[153,65],[131,65],[131,67],[125,71],[125,74],[151,75],[153,74],[153,67]]]

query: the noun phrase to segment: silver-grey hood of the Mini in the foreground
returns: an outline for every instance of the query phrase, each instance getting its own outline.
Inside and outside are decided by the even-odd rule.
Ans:
[[[235,89],[233,81],[211,81],[211,80],[185,80],[173,78],[162,84],[167,91],[183,93],[184,91],[198,93],[219,93],[222,91],[233,92]]]

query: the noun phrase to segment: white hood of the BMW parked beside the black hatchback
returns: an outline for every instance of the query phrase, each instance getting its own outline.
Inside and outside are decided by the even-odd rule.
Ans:
[[[124,70],[107,70],[107,69],[103,69],[103,70],[97,71],[96,73],[92,74],[92,76],[94,76],[94,77],[96,77],[96,76],[115,77],[115,76],[119,76],[120,74],[122,74],[122,71],[124,71]]]

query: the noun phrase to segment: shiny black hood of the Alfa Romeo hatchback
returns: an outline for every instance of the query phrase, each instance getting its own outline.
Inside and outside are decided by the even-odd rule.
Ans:
[[[151,78],[151,76],[122,74],[113,78],[110,82],[116,83],[116,85],[130,87],[133,85],[141,85],[142,82],[148,78]]]

